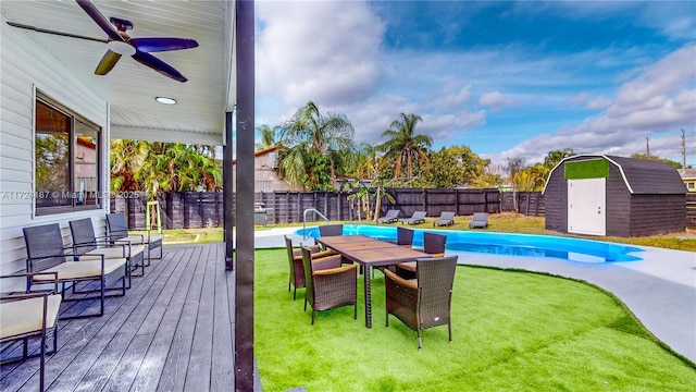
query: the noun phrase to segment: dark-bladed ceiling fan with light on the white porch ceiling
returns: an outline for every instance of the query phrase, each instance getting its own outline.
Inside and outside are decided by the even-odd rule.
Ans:
[[[95,74],[97,75],[105,75],[111,71],[121,56],[130,56],[137,62],[142,65],[149,66],[154,71],[161,73],[162,75],[169,76],[178,82],[186,82],[187,78],[184,77],[178,71],[176,71],[173,66],[165,63],[164,61],[156,58],[150,54],[150,52],[158,51],[167,51],[167,50],[182,50],[196,48],[198,42],[195,39],[186,39],[186,38],[130,38],[127,30],[133,28],[133,23],[130,21],[111,17],[109,21],[104,17],[104,15],[99,12],[97,7],[91,3],[89,0],[76,0],[77,4],[82,7],[83,10],[91,17],[101,29],[107,33],[109,38],[94,38],[86,37],[70,33],[55,32],[46,28],[34,27],[29,25],[24,25],[14,22],[8,22],[10,26],[26,28],[39,33],[54,34],[64,37],[79,38],[79,39],[88,39],[98,42],[105,42],[109,49],[107,53],[99,61],[99,65],[97,65],[97,70],[95,70]]]

